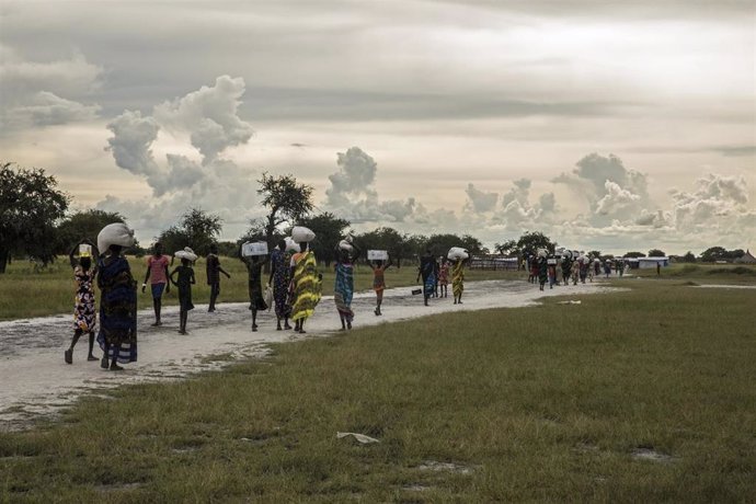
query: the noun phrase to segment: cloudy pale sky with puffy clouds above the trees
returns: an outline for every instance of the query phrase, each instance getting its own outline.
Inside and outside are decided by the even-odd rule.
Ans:
[[[356,230],[756,249],[752,1],[0,0],[0,152],[142,243],[261,173]]]

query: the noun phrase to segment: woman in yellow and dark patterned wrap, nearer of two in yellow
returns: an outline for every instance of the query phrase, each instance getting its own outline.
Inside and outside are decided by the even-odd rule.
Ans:
[[[314,252],[308,249],[308,243],[299,243],[299,250],[302,252],[291,256],[291,320],[295,332],[306,334],[305,321],[320,302],[323,275],[318,273]]]

